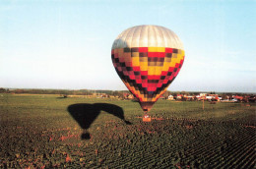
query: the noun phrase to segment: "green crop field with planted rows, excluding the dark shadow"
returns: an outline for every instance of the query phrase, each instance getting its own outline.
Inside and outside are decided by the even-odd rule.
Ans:
[[[254,168],[255,108],[159,100],[143,123],[131,100],[0,94],[0,168]]]

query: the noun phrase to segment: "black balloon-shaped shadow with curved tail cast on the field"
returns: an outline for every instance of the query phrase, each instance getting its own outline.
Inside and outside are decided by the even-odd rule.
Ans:
[[[121,119],[125,124],[131,125],[129,121],[124,118],[123,109],[114,104],[108,103],[78,103],[68,106],[70,115],[78,122],[80,127],[84,129],[84,133],[81,135],[82,140],[90,140],[90,133],[88,129],[94,123],[100,111],[105,111],[108,114],[112,114]]]

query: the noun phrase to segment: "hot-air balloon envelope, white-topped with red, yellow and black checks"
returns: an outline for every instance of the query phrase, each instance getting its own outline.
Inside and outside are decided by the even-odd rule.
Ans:
[[[112,62],[123,83],[148,112],[176,78],[185,53],[179,37],[160,26],[137,26],[114,40]]]

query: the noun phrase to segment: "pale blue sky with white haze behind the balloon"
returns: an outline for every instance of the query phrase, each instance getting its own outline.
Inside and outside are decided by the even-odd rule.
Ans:
[[[185,62],[168,90],[256,92],[256,1],[0,1],[0,87],[126,89],[111,46],[126,28],[173,30]]]

